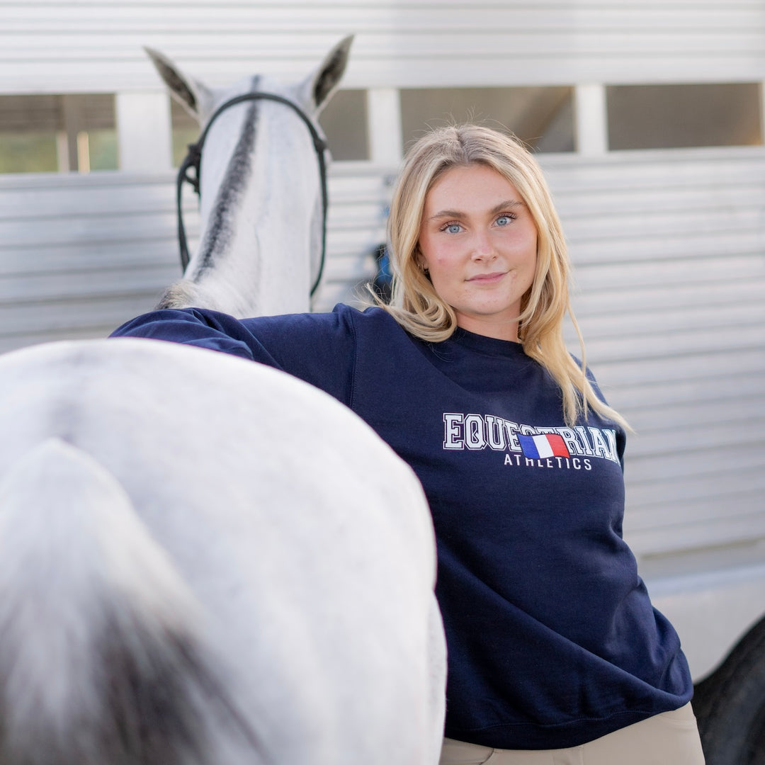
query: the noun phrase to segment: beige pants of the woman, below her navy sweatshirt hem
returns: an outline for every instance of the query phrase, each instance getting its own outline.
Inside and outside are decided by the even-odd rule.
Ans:
[[[690,704],[570,749],[513,750],[444,738],[440,765],[704,765]]]

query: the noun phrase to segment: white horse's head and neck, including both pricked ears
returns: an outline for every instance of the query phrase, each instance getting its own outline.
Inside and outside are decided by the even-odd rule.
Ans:
[[[200,243],[158,308],[238,317],[308,310],[327,203],[329,152],[317,116],[337,90],[352,42],[345,37],[298,83],[256,75],[227,88],[208,87],[146,49],[171,95],[203,128]]]

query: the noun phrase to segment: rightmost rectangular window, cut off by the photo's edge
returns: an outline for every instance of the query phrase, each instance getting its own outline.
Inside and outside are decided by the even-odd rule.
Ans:
[[[756,83],[609,86],[606,104],[612,150],[763,142]]]

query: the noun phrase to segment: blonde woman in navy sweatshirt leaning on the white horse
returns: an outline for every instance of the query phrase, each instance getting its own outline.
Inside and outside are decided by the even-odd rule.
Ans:
[[[500,132],[431,132],[389,248],[386,307],[158,311],[116,334],[285,369],[414,468],[449,651],[442,763],[703,763],[678,637],[621,536],[626,423],[562,340],[568,259],[538,165]]]

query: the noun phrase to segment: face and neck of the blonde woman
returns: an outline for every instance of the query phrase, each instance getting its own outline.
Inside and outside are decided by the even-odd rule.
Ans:
[[[425,197],[420,265],[470,332],[518,340],[521,298],[534,281],[536,226],[520,194],[484,164],[446,171]]]

